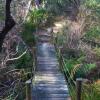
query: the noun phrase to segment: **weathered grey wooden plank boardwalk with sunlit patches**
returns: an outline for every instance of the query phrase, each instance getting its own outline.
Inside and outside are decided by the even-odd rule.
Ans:
[[[64,75],[59,70],[54,45],[50,36],[38,35],[37,66],[32,100],[70,100]]]

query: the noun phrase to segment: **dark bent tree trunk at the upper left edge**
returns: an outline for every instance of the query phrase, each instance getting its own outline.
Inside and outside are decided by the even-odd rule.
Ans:
[[[15,21],[11,16],[11,11],[10,11],[10,4],[12,0],[6,0],[6,11],[5,11],[5,26],[0,32],[0,51],[2,50],[2,44],[4,41],[5,36],[7,33],[15,26]]]

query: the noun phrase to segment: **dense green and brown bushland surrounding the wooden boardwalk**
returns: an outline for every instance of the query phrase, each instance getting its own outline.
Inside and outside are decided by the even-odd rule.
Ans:
[[[23,13],[26,17],[13,4],[27,12],[23,2],[12,3],[12,14],[18,25],[6,36],[0,53],[0,99],[24,100],[25,82],[32,78],[35,66],[36,33],[53,27],[53,43],[72,100],[76,100],[77,78],[87,79],[82,86],[82,100],[99,100],[100,1],[41,0],[38,4],[32,1],[28,14]],[[4,13],[3,8],[0,5]],[[3,23],[4,16],[0,13],[0,24]]]

